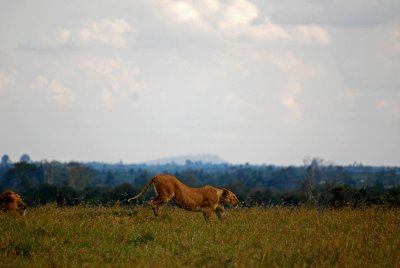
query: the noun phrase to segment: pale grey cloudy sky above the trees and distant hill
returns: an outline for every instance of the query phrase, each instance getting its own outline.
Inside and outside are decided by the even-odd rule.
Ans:
[[[0,155],[400,165],[400,1],[3,1]]]

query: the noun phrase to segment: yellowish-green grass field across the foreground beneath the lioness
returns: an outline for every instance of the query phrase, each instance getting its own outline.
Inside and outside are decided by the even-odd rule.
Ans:
[[[400,267],[400,210],[44,206],[0,215],[1,267]]]

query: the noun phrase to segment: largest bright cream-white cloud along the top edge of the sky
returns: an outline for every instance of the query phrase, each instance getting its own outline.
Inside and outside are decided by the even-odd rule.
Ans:
[[[229,39],[246,37],[257,42],[286,40],[305,45],[330,43],[328,31],[319,25],[284,26],[267,17],[263,22],[255,22],[262,19],[261,12],[248,0],[164,0],[162,3],[167,15],[174,21],[213,29]]]

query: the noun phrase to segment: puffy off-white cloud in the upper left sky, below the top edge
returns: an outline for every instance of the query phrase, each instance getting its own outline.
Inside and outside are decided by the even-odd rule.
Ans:
[[[104,19],[102,21],[89,21],[79,30],[80,42],[100,42],[116,47],[126,47],[125,33],[133,30],[124,19]]]

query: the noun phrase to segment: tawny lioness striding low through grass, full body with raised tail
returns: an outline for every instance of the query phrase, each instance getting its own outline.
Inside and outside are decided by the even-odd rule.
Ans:
[[[160,174],[150,179],[143,190],[138,195],[129,198],[128,202],[139,198],[152,183],[154,183],[154,189],[157,193],[157,196],[151,200],[151,207],[155,216],[159,215],[159,207],[171,199],[181,208],[203,212],[206,220],[210,220],[214,212],[222,219],[225,213],[224,204],[226,203],[231,203],[234,206],[239,205],[236,195],[225,188],[218,189],[209,185],[191,188],[180,182],[176,177],[167,174]]]

